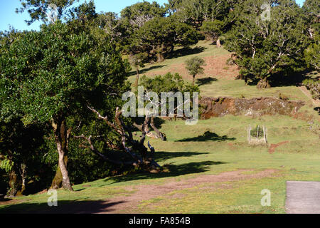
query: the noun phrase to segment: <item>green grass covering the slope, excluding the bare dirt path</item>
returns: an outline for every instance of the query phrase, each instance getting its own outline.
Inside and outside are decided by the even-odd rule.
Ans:
[[[198,46],[206,49],[195,55],[205,58],[228,58],[228,52],[201,42]],[[149,76],[178,69],[189,56],[182,56],[146,66],[144,73]],[[213,58],[212,58],[213,57]],[[210,59],[209,59],[210,60]],[[210,63],[211,64],[211,63]],[[158,68],[161,66],[161,68]],[[218,66],[231,71],[227,66]],[[148,70],[150,69],[151,70]],[[161,174],[139,174],[123,177],[110,177],[105,180],[76,185],[76,192],[58,192],[59,206],[63,204],[81,205],[83,200],[105,200],[119,195],[130,195],[132,187],[137,185],[163,185],[169,181],[193,178],[198,175],[218,175],[238,169],[279,170],[278,175],[261,179],[242,180],[216,184],[206,184],[186,190],[177,190],[154,199],[142,202],[138,208],[127,212],[146,213],[284,213],[285,182],[287,180],[320,180],[319,155],[319,117],[313,110],[309,98],[295,86],[257,90],[255,86],[245,86],[243,81],[235,81],[220,74],[223,71],[210,71],[212,65],[206,66],[205,74],[200,78],[216,78],[210,84],[201,86],[201,95],[225,95],[238,97],[274,96],[279,93],[287,95],[292,100],[304,100],[306,105],[302,112],[314,118],[314,123],[304,118],[294,119],[287,116],[265,116],[250,118],[244,116],[225,116],[201,120],[198,125],[185,125],[182,120],[167,121],[161,130],[166,133],[168,141],[151,140],[156,148],[156,160],[161,165],[167,165],[171,172]],[[174,70],[173,70],[174,71]],[[234,71],[234,70],[233,70]],[[180,71],[179,71],[180,72]],[[191,80],[186,72],[181,71],[184,78]],[[173,72],[174,73],[174,72]],[[233,73],[231,73],[233,74]],[[134,81],[135,76],[129,78]],[[246,143],[247,125],[267,125],[270,144],[289,141],[277,147],[273,154],[268,147],[249,146]],[[210,138],[201,141],[198,136],[210,131],[219,135],[220,140]],[[223,136],[226,135],[225,138]],[[227,187],[225,187],[227,186]],[[210,187],[204,190],[203,187]],[[213,187],[213,189],[212,189]],[[272,206],[260,205],[261,190],[272,192]],[[174,197],[180,195],[182,197]],[[46,202],[48,195],[32,195],[18,197],[10,204],[0,203],[1,212],[32,212],[41,210],[50,212]],[[75,202],[77,201],[77,202]],[[11,205],[12,204],[12,205]]]

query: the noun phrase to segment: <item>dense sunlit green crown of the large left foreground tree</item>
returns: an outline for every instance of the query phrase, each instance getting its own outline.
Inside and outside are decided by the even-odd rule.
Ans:
[[[1,118],[20,110],[25,123],[46,122],[59,113],[78,113],[93,94],[110,86],[121,93],[127,73],[112,43],[71,29],[43,26],[1,55]]]

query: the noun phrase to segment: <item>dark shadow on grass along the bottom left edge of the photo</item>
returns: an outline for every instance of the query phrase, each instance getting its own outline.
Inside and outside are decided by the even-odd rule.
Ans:
[[[49,207],[48,203],[9,204],[0,208],[0,214],[94,214],[101,212],[112,212],[110,207],[122,204],[124,201],[107,202],[58,200],[58,207]]]

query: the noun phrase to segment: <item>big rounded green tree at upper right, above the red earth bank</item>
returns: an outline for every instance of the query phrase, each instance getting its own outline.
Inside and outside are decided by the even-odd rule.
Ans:
[[[226,35],[225,47],[237,54],[242,76],[267,82],[273,74],[289,75],[304,69],[308,38],[303,11],[294,1],[270,1],[270,21],[260,18],[264,3],[245,1],[235,26]],[[267,84],[258,86],[266,88]]]

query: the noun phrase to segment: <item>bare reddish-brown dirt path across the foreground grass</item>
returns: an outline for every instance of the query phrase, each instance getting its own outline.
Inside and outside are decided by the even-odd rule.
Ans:
[[[137,213],[137,206],[143,200],[153,199],[160,195],[166,195],[176,190],[188,189],[201,184],[216,182],[232,182],[240,180],[249,180],[253,178],[270,177],[277,170],[264,170],[254,174],[244,174],[243,172],[252,170],[237,170],[232,172],[223,172],[220,175],[201,175],[191,180],[182,180],[180,182],[168,182],[164,185],[137,185],[127,188],[135,190],[132,195],[115,197],[101,204],[99,210],[95,209],[95,204],[87,205],[86,209],[80,213],[92,214],[119,214],[119,213]],[[200,193],[200,192],[199,192]]]

